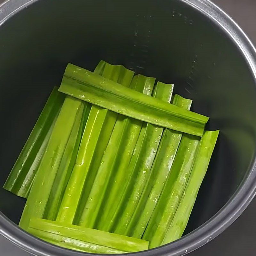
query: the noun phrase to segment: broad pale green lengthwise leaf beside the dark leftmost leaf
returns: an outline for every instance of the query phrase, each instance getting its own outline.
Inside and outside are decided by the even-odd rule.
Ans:
[[[20,219],[19,225],[25,230],[31,217],[43,217],[68,138],[77,116],[82,116],[82,103],[70,96],[64,100]]]

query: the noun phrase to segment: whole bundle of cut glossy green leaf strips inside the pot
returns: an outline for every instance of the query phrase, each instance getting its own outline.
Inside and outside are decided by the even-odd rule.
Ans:
[[[81,252],[179,239],[219,131],[173,84],[100,61],[68,64],[4,188],[27,198],[19,226]]]

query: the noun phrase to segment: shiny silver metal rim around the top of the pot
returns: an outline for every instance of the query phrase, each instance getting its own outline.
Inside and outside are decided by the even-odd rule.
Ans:
[[[0,5],[0,26],[17,12],[38,0],[8,0]],[[256,50],[244,31],[217,5],[208,0],[179,0],[191,6],[212,20],[227,34],[243,53],[256,84]],[[231,225],[250,204],[256,194],[256,156],[247,176],[234,195],[210,220],[181,239],[170,244],[144,252],[129,253],[134,256],[181,256],[192,252],[211,241]],[[0,234],[23,250],[38,256],[70,256],[71,251],[46,243],[20,229],[0,212]],[[46,246],[47,245],[47,246]],[[91,253],[72,251],[73,256],[86,256]],[[97,254],[95,254],[97,255]],[[98,254],[99,255],[99,254]]]

